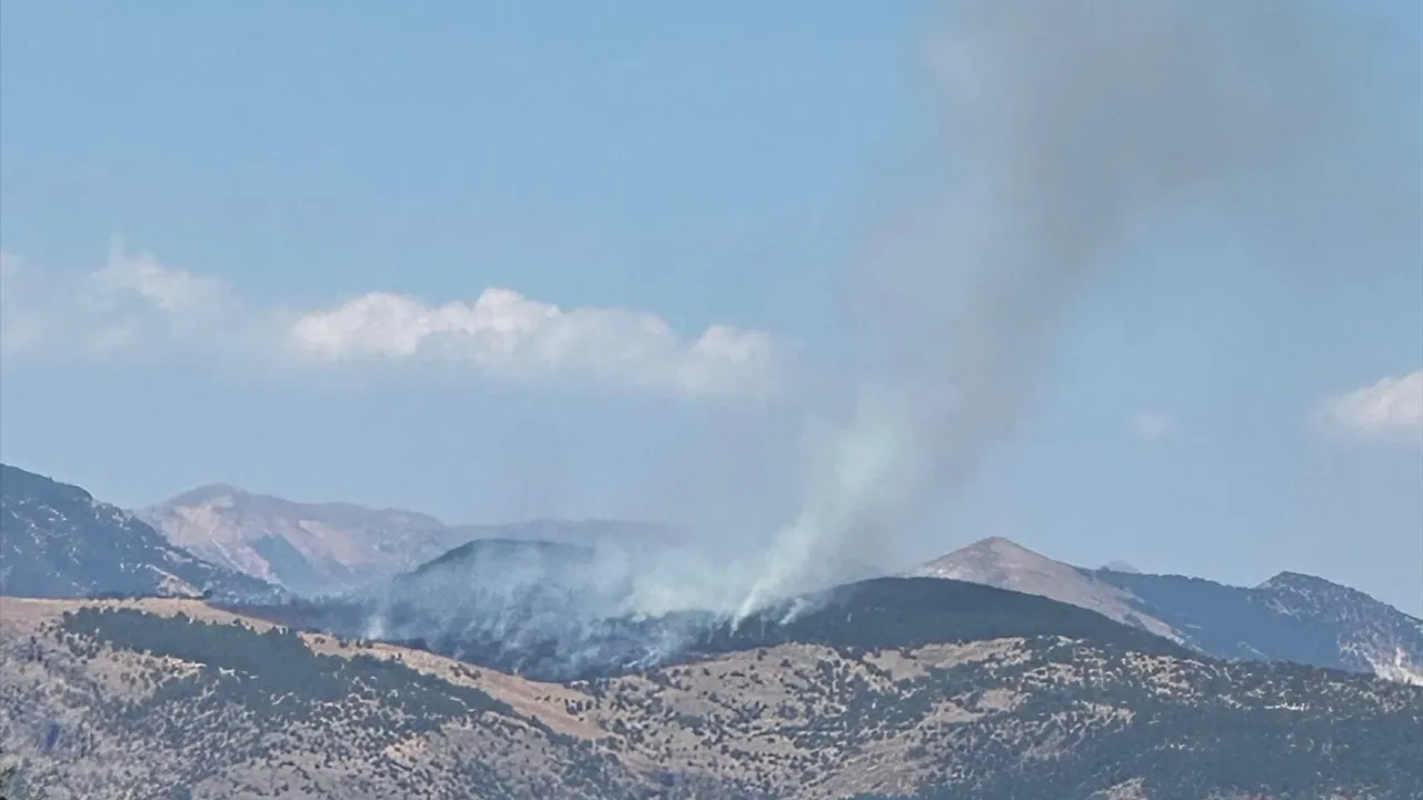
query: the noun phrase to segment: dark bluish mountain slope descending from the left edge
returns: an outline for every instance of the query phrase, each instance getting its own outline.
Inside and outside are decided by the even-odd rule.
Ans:
[[[176,548],[90,493],[0,464],[0,592],[269,596],[270,586]]]

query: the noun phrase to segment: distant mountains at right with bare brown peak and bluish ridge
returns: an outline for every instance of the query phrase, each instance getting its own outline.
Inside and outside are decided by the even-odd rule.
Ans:
[[[975,542],[914,574],[1053,598],[1217,658],[1292,660],[1423,683],[1423,621],[1323,578],[1281,572],[1247,588],[1083,569],[1005,538]]]

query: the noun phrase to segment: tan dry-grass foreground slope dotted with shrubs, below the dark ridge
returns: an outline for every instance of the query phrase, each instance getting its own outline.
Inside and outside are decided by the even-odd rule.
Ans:
[[[1339,747],[1339,774],[1322,779],[1339,784],[1338,796],[1402,797],[1345,774],[1350,759],[1368,759],[1348,750],[1360,735],[1332,720],[1348,709],[1362,726],[1423,723],[1416,689],[1062,638],[854,655],[787,643],[559,685],[300,633],[295,641],[313,662],[351,665],[353,689],[260,695],[259,675],[78,633],[65,612],[85,608],[279,632],[196,601],[0,599],[0,749],[23,764],[27,786],[54,800],[982,797],[1054,784],[1080,786],[1064,797],[1154,800],[1168,794],[1153,783],[1167,763],[1153,753],[1168,753],[1173,769],[1192,769],[1192,759],[1202,770],[1235,769],[1211,766],[1218,754],[1210,747],[1192,754],[1207,730],[1244,736],[1262,752],[1292,737]],[[418,680],[400,678],[400,692],[367,690],[361,676],[379,673],[371,663]],[[411,705],[421,692],[461,690],[492,703],[438,713]],[[1155,727],[1137,726],[1147,717]],[[1175,719],[1185,720],[1181,736],[1170,735]],[[1202,727],[1214,725],[1225,727]],[[1147,730],[1167,733],[1155,740]],[[1338,740],[1309,744],[1321,730]],[[1407,746],[1385,742],[1370,752],[1403,764],[1399,749]],[[1080,772],[1083,760],[1109,756],[1121,762],[1116,774]],[[1358,769],[1373,769],[1365,762]],[[1409,769],[1399,773],[1402,790],[1423,786],[1423,767]],[[1237,777],[1234,796],[1285,796],[1244,786],[1265,786],[1269,776]],[[1195,797],[1232,796],[1207,783]]]

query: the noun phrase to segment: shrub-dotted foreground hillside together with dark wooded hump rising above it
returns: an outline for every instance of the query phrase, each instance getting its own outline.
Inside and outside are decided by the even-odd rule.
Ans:
[[[1423,796],[1420,688],[949,581],[566,682],[194,601],[4,604],[0,762],[55,800]]]

